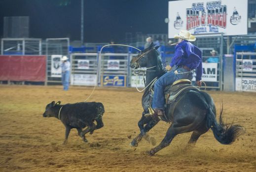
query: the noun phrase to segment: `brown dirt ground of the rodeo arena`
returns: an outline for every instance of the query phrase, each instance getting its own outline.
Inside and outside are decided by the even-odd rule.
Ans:
[[[241,124],[246,133],[232,145],[222,145],[212,131],[195,147],[186,148],[191,133],[178,135],[155,156],[143,140],[136,150],[129,146],[139,133],[141,96],[134,88],[96,88],[90,101],[102,102],[105,126],[83,143],[75,129],[62,145],[64,125],[57,118],[43,118],[46,104],[84,101],[92,87],[0,86],[0,172],[256,172],[256,93],[209,91],[224,120]],[[170,124],[158,123],[149,134],[157,144]],[[131,138],[130,138],[131,136]]]

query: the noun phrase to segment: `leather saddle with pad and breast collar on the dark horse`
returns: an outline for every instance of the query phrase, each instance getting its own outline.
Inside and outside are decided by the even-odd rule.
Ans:
[[[151,107],[151,102],[154,94],[153,85],[154,83],[152,83],[152,85],[149,88],[151,101],[150,101],[150,106],[148,107],[148,112],[150,115],[154,114],[154,110]],[[168,104],[176,102],[177,99],[179,98],[179,95],[182,95],[183,93],[185,93],[186,90],[199,90],[199,89],[195,86],[192,86],[191,81],[188,79],[177,80],[172,85],[166,86],[164,89],[166,106]],[[174,108],[175,106],[172,106],[172,110],[171,110],[172,112],[174,111]],[[168,122],[170,121],[165,115],[160,116],[160,118],[164,121],[168,121]]]

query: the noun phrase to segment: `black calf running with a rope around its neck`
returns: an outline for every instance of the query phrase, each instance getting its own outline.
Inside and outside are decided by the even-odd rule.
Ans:
[[[66,137],[63,144],[66,144],[72,128],[76,128],[83,141],[88,142],[85,134],[88,132],[92,134],[94,130],[104,126],[102,121],[104,112],[102,103],[80,102],[61,105],[60,101],[57,103],[53,101],[46,106],[43,117],[56,117],[62,121],[66,127]],[[97,125],[94,124],[94,120],[96,120]],[[82,130],[84,127],[87,128]]]

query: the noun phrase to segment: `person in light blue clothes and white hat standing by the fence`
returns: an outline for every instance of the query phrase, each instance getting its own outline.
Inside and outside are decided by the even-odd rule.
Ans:
[[[68,61],[67,56],[63,56],[61,58],[62,64],[61,64],[61,81],[63,85],[63,89],[65,91],[69,90],[69,85],[70,85],[70,62]]]

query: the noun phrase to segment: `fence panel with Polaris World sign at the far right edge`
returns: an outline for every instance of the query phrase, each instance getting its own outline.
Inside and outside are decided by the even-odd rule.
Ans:
[[[236,53],[235,90],[256,92],[256,53]]]

